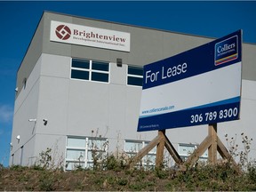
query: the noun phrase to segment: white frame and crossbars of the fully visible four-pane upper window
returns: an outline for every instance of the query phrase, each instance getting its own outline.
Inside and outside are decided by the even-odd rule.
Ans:
[[[73,60],[79,60],[79,61],[89,61],[89,68],[77,68],[73,67]],[[99,69],[93,69],[93,62],[96,63],[104,63],[108,64],[108,71],[107,70],[99,70]],[[72,77],[72,70],[76,71],[81,71],[81,72],[88,72],[88,79],[83,79],[83,78],[75,78]],[[103,75],[108,75],[108,82],[107,81],[97,81],[97,80],[92,80],[92,74],[103,74]],[[101,84],[110,84],[110,62],[108,61],[103,61],[103,60],[89,60],[89,59],[78,59],[78,58],[71,58],[70,61],[70,79],[72,80],[77,80],[77,81],[87,81],[87,82],[93,82],[93,83],[101,83]]]

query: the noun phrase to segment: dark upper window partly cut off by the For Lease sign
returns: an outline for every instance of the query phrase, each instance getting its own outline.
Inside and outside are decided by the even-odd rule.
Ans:
[[[142,86],[142,81],[143,81],[143,68],[135,67],[135,66],[128,66],[127,84],[135,85],[135,86]]]

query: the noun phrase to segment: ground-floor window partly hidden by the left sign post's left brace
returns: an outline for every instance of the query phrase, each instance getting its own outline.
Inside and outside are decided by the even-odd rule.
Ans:
[[[130,157],[135,156],[140,151],[140,149],[146,147],[149,143],[149,141],[144,140],[125,140],[124,142],[124,151]],[[142,165],[145,168],[151,168],[155,166],[155,163],[156,147],[149,151],[148,155],[144,156],[141,159],[141,162],[137,164],[137,166]]]

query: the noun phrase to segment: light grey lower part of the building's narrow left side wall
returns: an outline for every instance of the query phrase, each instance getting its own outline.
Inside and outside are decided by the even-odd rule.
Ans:
[[[30,76],[26,76],[26,88],[21,88],[19,97],[15,100],[10,164],[20,164],[22,146],[24,158],[21,161],[22,165],[28,165],[29,157],[34,156],[36,122],[29,122],[28,119],[37,117],[40,66],[41,59],[36,62]],[[18,135],[20,140],[16,139]]]

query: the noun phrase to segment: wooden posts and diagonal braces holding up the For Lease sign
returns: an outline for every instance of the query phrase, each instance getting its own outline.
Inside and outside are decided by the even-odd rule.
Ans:
[[[143,156],[146,156],[150,150],[156,147],[156,168],[161,168],[164,159],[164,147],[168,150],[175,163],[180,167],[180,170],[185,171],[188,167],[194,166],[196,161],[204,152],[208,149],[208,162],[210,164],[217,164],[217,151],[220,156],[234,165],[236,172],[241,173],[239,166],[236,164],[233,157],[228,153],[228,149],[221,142],[217,135],[217,124],[208,125],[208,136],[202,141],[202,143],[196,148],[196,150],[188,156],[186,162],[182,162],[180,155],[176,149],[172,146],[172,143],[165,135],[165,130],[158,131],[157,137],[148,143],[145,148],[142,148],[136,156],[132,158],[129,168],[133,168]]]

